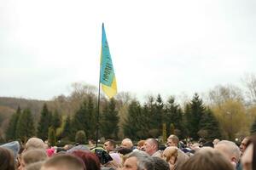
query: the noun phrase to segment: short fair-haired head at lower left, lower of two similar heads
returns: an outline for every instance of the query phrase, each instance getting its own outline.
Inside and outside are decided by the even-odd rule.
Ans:
[[[19,170],[24,170],[26,166],[37,161],[44,161],[47,159],[45,150],[26,150],[22,153],[20,159]]]

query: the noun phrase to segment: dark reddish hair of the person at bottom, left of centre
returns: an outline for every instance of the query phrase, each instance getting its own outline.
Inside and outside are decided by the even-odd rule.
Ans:
[[[74,150],[72,152],[74,156],[78,156],[84,161],[84,165],[87,170],[100,170],[101,164],[99,158],[91,152],[83,150]]]

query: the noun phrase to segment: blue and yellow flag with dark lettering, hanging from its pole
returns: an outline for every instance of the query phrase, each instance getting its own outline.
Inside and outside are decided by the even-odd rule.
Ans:
[[[102,90],[108,95],[108,98],[112,98],[117,94],[116,80],[113,72],[113,64],[111,55],[108,48],[108,41],[102,24],[102,54],[101,54],[101,78]]]

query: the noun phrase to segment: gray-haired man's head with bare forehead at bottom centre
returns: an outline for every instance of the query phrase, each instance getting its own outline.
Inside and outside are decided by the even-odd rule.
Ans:
[[[125,159],[122,170],[154,170],[154,161],[145,152],[134,151]]]

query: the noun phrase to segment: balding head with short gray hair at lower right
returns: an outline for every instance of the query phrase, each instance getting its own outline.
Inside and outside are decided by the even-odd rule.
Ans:
[[[241,152],[234,142],[221,140],[215,145],[214,149],[221,152],[236,167],[236,164],[240,160]]]

